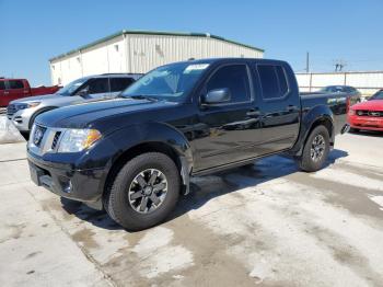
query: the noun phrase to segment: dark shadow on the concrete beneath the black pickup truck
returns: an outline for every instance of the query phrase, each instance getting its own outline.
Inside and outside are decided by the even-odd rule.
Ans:
[[[347,156],[348,153],[343,150],[333,150],[328,157],[326,167],[334,164],[338,159],[346,158]],[[258,160],[254,164],[216,173],[214,175],[193,177],[190,194],[179,198],[176,209],[165,221],[172,221],[189,210],[198,209],[218,196],[241,188],[256,186],[295,172],[300,172],[300,170],[293,159],[290,157],[274,156]],[[66,213],[74,215],[81,220],[86,220],[96,227],[108,230],[121,229],[105,211],[95,210],[81,203],[66,198],[61,198],[61,204]]]

